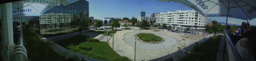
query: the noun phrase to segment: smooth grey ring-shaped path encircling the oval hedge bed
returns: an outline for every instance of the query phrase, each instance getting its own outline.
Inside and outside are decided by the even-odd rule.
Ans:
[[[152,32],[142,32],[142,31],[135,30],[135,32],[124,34],[124,36],[125,36],[124,41],[127,44],[134,47],[135,39],[133,39],[133,38],[135,38],[134,34],[137,34],[137,33],[152,33]],[[152,34],[155,34],[157,36],[160,36],[161,38],[164,38],[165,41],[162,43],[158,43],[158,44],[149,44],[149,43],[143,43],[143,42],[137,41],[136,47],[142,48],[142,49],[147,49],[147,50],[164,50],[163,45],[165,46],[165,48],[171,48],[171,47],[173,47],[174,44],[177,44],[177,40],[170,36],[166,36],[166,35],[159,34],[159,33],[152,33]]]

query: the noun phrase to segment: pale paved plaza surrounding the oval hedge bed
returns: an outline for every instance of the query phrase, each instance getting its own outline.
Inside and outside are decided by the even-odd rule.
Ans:
[[[135,27],[135,28],[137,29],[138,27]],[[169,50],[170,50],[169,54],[178,51],[177,47],[180,47],[182,44],[188,46],[190,44],[193,44],[194,42],[197,42],[196,40],[189,40],[189,39],[180,37],[181,35],[180,33],[174,33],[169,31],[153,32],[151,30],[122,30],[122,31],[117,31],[114,34],[114,51],[116,51],[121,56],[126,56],[134,60],[134,44],[135,44],[134,34],[142,33],[142,32],[156,34],[157,36],[164,38],[165,41],[159,44],[147,44],[147,43],[142,43],[140,41],[136,41],[136,60],[137,61],[151,60],[151,59],[163,57],[168,55]],[[109,40],[109,45],[111,47],[113,42],[112,39],[113,38],[110,38]],[[184,39],[186,41],[183,41]]]

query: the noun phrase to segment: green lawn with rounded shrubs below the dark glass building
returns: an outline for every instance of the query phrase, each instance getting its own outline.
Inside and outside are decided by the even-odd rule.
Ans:
[[[92,39],[93,38],[88,38],[85,35],[78,35],[66,40],[58,41],[56,43],[73,52],[83,54],[95,59],[106,61],[131,61],[129,58],[120,56],[115,51],[112,51],[112,48],[107,42],[99,42],[98,39],[96,39],[97,41],[95,42],[89,41]],[[88,51],[80,48],[80,46],[86,45],[88,47],[92,47],[92,49]]]

